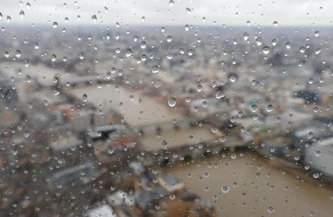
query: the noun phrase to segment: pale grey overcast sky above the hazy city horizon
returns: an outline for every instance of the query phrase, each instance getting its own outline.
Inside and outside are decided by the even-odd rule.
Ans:
[[[0,13],[6,25],[45,24],[58,22],[60,26],[101,23],[121,24],[170,24],[190,25],[271,25],[277,21],[280,26],[329,25],[333,20],[333,0],[1,0]],[[31,7],[27,8],[29,2]],[[66,6],[64,6],[64,3]],[[107,8],[107,13],[104,9]],[[186,8],[191,9],[188,14]],[[20,11],[24,17],[20,18]],[[238,13],[238,15],[237,15]],[[81,16],[78,20],[77,16]],[[97,23],[91,17],[96,15]],[[142,22],[142,17],[145,21]],[[65,23],[65,17],[69,19]],[[203,17],[206,21],[203,21]]]

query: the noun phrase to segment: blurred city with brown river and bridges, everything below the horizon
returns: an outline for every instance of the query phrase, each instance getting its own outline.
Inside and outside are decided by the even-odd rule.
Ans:
[[[332,28],[1,30],[0,216],[333,215]]]

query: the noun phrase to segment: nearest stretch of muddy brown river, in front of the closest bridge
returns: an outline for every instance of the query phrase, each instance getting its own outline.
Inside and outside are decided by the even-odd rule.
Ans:
[[[333,216],[331,184],[302,180],[255,153],[242,153],[237,152],[234,159],[227,155],[176,164],[167,168],[167,173],[181,179],[192,193],[216,201],[219,217]],[[223,186],[228,186],[229,192],[223,193]],[[273,211],[269,212],[270,207]]]

